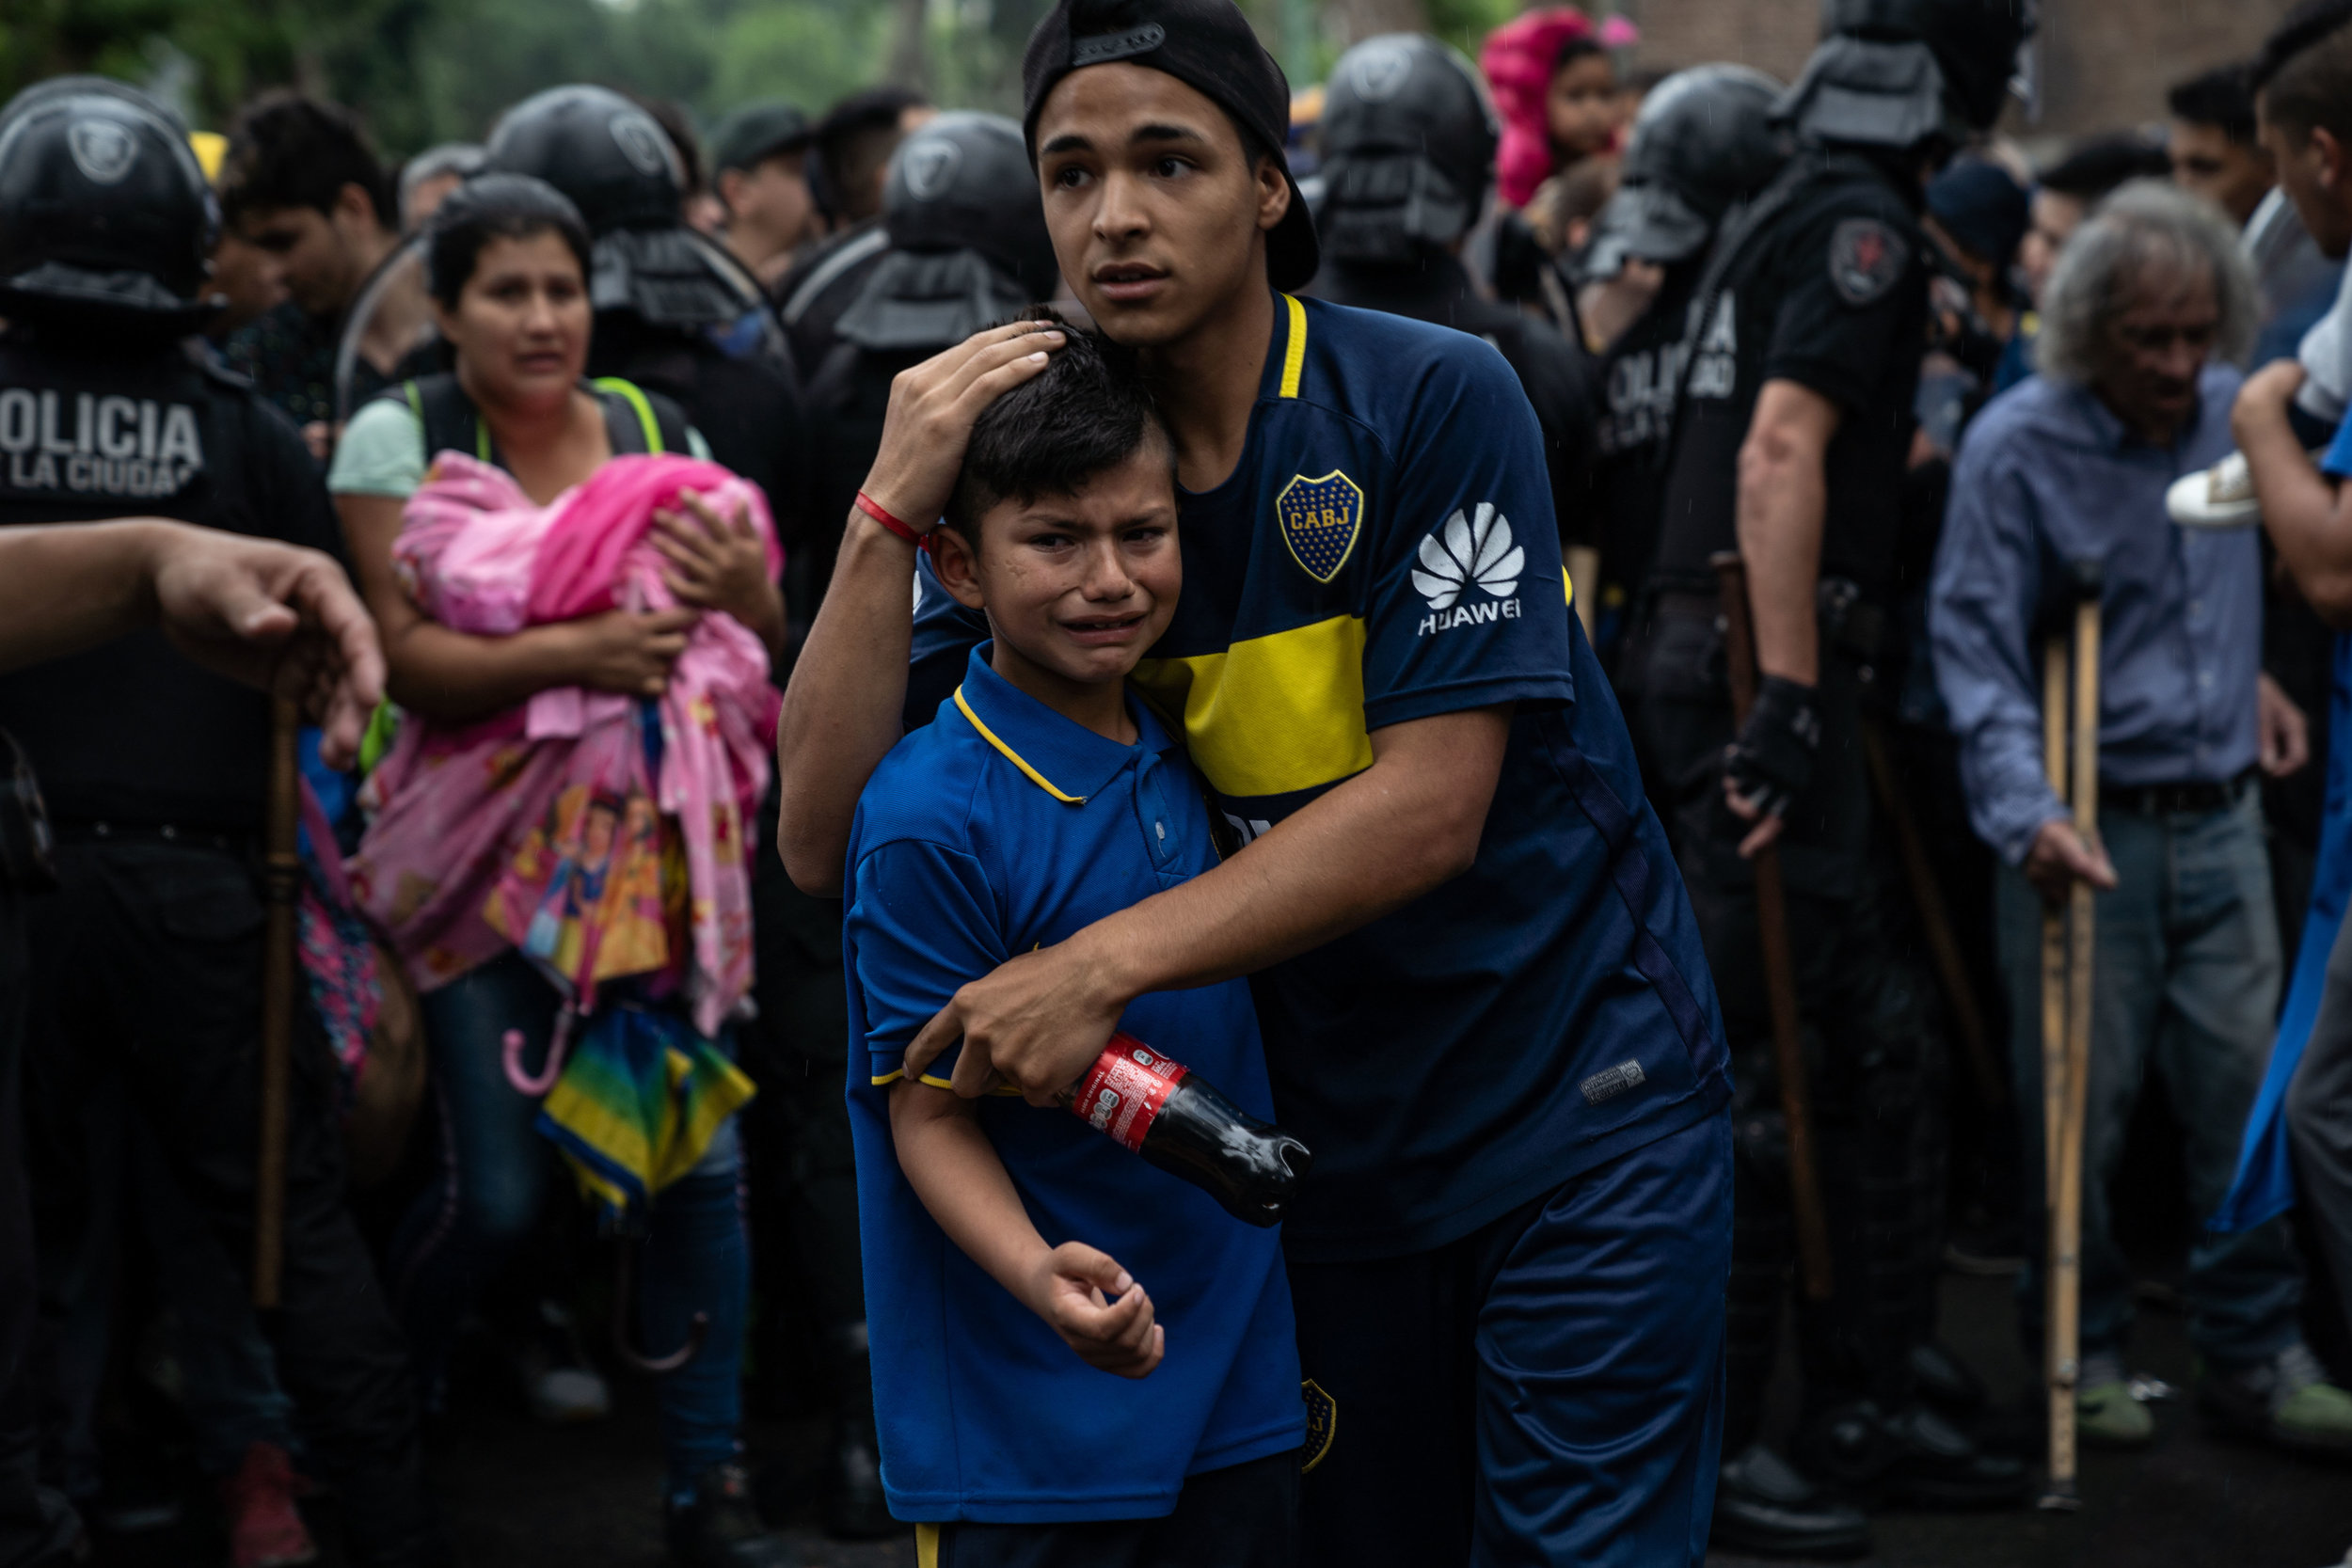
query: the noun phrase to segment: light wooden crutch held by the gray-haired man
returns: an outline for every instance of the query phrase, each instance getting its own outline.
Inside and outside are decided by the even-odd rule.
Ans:
[[[2096,846],[2100,569],[2098,562],[2074,562],[2067,576],[2074,599],[2074,712],[2067,715],[2067,656],[2051,637],[2042,668],[2042,750],[2051,785],[2074,816],[2074,832]],[[2044,1509],[2082,1507],[2074,1490],[2074,1389],[2082,1373],[2082,1143],[2091,1098],[2093,936],[2091,884],[2077,877],[2063,917],[2049,905],[2042,910],[2042,1157],[2051,1215],[2044,1269],[2051,1472]]]

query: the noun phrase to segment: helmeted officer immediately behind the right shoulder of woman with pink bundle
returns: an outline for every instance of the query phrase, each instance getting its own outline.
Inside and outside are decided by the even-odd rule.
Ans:
[[[710,456],[767,491],[790,552],[804,465],[790,357],[757,282],[684,226],[661,122],[607,87],[550,87],[506,110],[487,158],[548,181],[588,221],[588,374],[673,397]]]

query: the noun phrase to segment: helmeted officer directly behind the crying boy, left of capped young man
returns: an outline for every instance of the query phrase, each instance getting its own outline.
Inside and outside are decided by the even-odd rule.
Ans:
[[[795,625],[816,618],[833,578],[842,524],[882,447],[891,376],[1051,299],[1058,277],[1021,125],[1004,115],[943,113],[908,136],[870,233],[882,237],[870,266],[837,301],[830,334],[809,339],[823,353],[807,364],[816,449],[809,529],[786,567]],[[776,856],[762,856],[753,933],[760,1020],[750,1037],[762,1093],[748,1110],[748,1128],[755,1164],[762,1147],[783,1154],[760,1178],[753,1201],[783,1218],[769,1234],[790,1239],[833,1375],[828,1523],[837,1535],[884,1533],[894,1526],[875,1486],[856,1157],[842,1114],[849,1039],[842,907],[802,893]]]

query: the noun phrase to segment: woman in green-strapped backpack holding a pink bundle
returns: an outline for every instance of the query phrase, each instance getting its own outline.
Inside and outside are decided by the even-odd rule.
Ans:
[[[581,381],[588,233],[550,186],[456,190],[428,280],[454,371],[362,407],[329,475],[402,708],[353,886],[423,992],[442,1107],[393,1300],[435,1392],[562,1147],[607,1213],[649,1218],[633,1338],[701,1333],[661,1375],[673,1554],[783,1563],[736,1462],[748,1081],[727,1023],[783,637],[767,503],[675,404]],[[670,1095],[659,1117],[637,1088]]]

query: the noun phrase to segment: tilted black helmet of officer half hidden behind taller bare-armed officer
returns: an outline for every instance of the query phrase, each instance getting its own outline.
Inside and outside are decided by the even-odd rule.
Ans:
[[[1693,66],[1642,101],[1625,146],[1623,183],[1602,209],[1581,275],[1616,277],[1628,256],[1696,256],[1731,205],[1788,162],[1773,125],[1780,82],[1748,66]]]

